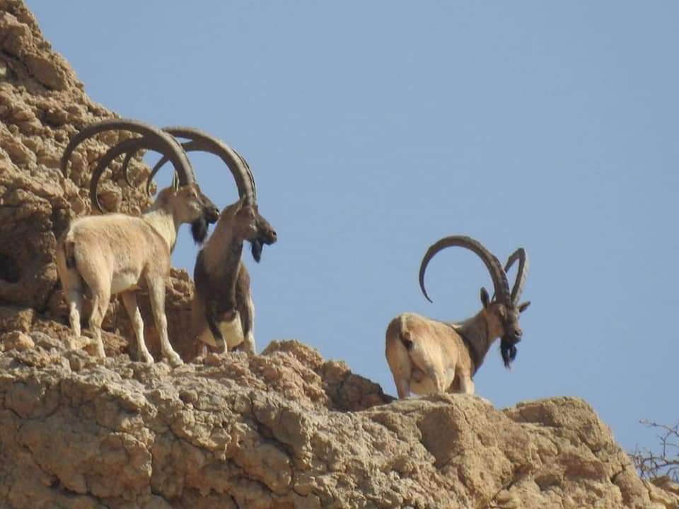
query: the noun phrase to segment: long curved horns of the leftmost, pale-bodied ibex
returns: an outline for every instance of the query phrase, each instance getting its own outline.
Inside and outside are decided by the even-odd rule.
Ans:
[[[62,156],[61,160],[61,168],[62,173],[64,173],[64,177],[67,176],[66,168],[69,163],[69,158],[71,158],[71,154],[76,149],[76,147],[79,146],[79,144],[81,144],[86,139],[95,136],[95,134],[112,130],[132,131],[134,133],[141,134],[141,137],[127,139],[121,141],[115,146],[112,146],[108,149],[108,151],[106,151],[104,156],[98,162],[97,168],[95,168],[94,172],[92,173],[90,181],[90,197],[92,204],[98,211],[104,211],[96,192],[101,175],[112,160],[114,160],[117,156],[120,156],[122,153],[129,154],[129,151],[131,151],[133,148],[136,148],[136,150],[146,148],[161,153],[163,157],[168,158],[170,163],[172,163],[173,167],[175,168],[180,185],[184,186],[195,183],[196,179],[191,167],[191,163],[189,162],[185,151],[182,149],[178,141],[176,141],[171,134],[161,131],[161,129],[132,119],[103,120],[85,127],[78,134],[76,134],[76,136],[71,138],[71,141],[69,141],[69,144],[64,150],[64,155]],[[126,160],[128,159],[126,158]]]

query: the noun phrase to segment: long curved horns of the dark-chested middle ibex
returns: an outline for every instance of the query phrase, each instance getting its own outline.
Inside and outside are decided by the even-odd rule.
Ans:
[[[202,151],[219,156],[227,165],[228,169],[231,170],[233,180],[236,180],[238,197],[241,199],[243,199],[243,197],[248,197],[248,201],[257,201],[257,190],[255,188],[253,172],[250,170],[250,166],[243,156],[240,156],[233,148],[226,145],[223,141],[216,139],[214,136],[210,136],[204,131],[191,127],[163,127],[163,131],[166,131],[173,136],[177,136],[178,138],[190,140],[182,144],[182,148],[184,148],[186,152]],[[151,171],[148,180],[146,180],[147,192],[149,192],[151,180],[153,180],[156,172],[160,170],[167,160],[166,157],[163,157],[161,160],[158,160],[158,163],[156,163],[155,166],[153,166],[153,170]]]

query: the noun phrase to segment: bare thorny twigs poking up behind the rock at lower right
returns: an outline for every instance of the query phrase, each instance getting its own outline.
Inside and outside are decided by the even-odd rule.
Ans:
[[[666,426],[646,419],[639,422],[658,431],[657,437],[661,445],[660,452],[645,448],[639,449],[637,445],[634,452],[629,453],[639,476],[649,480],[659,476],[669,476],[673,481],[679,482],[679,422],[674,426]]]

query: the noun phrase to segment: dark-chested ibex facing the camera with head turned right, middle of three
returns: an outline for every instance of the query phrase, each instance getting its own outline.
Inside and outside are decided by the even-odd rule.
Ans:
[[[250,295],[250,275],[240,257],[247,240],[259,262],[263,245],[276,242],[277,235],[259,213],[252,171],[238,152],[203,131],[187,127],[165,130],[190,140],[182,144],[187,152],[207,151],[219,156],[238,187],[238,201],[221,211],[214,233],[196,260],[192,334],[219,352],[242,345],[248,353],[255,353],[255,306]],[[166,158],[159,160],[150,177],[165,162]]]

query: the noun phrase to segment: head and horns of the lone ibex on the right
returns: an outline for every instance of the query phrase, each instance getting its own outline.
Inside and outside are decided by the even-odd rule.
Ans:
[[[521,341],[521,336],[523,335],[521,325],[519,324],[519,315],[530,305],[530,302],[521,304],[518,302],[519,298],[521,298],[523,285],[526,283],[526,276],[528,276],[526,250],[523,250],[523,248],[516,250],[509,257],[506,267],[503,269],[499,260],[477,240],[460,235],[442,238],[429,247],[429,250],[424,254],[424,259],[422,259],[419,269],[419,286],[429,302],[431,302],[431,299],[424,288],[426,266],[437,252],[451,246],[465,247],[475,252],[482,259],[490,273],[495,295],[493,298],[490,298],[487,290],[481,288],[481,303],[484,312],[487,314],[489,334],[492,337],[501,338],[500,353],[504,365],[506,368],[509,368],[511,361],[516,358],[516,344]],[[516,274],[516,282],[510,292],[506,272],[509,271],[511,265],[517,259],[519,261],[518,273]]]

